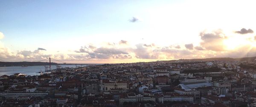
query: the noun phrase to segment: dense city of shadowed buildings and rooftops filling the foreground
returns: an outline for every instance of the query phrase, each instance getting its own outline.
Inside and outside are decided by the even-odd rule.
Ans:
[[[1,106],[254,107],[256,57],[228,59],[59,65],[34,76],[2,75]]]

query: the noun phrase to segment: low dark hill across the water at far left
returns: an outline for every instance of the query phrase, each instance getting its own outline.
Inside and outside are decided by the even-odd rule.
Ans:
[[[51,63],[57,65],[58,63]],[[46,66],[49,62],[0,62],[0,66]]]

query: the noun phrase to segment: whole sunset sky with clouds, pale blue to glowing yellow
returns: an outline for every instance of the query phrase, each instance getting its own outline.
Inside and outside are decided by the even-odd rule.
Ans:
[[[256,56],[255,0],[0,0],[0,60]]]

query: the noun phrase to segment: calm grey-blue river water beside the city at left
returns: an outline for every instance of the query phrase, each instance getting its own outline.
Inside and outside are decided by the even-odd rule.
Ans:
[[[73,67],[75,68],[76,65],[61,65],[62,68],[64,67]],[[51,69],[56,69],[56,66],[51,66]],[[27,75],[40,75],[40,71],[44,71],[44,66],[27,66],[27,67],[21,67],[21,66],[6,66],[6,67],[0,67],[0,76],[1,75],[12,75],[15,73],[22,73]]]

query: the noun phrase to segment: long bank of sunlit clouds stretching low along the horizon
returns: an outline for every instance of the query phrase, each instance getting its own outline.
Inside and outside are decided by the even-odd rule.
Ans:
[[[158,44],[127,44],[120,45],[119,42],[106,42],[102,45],[86,44],[85,46],[71,51],[68,54],[53,53],[46,54],[44,49],[36,50],[20,50],[18,52],[11,52],[7,47],[0,42],[0,58],[19,59],[16,61],[38,61],[42,59],[52,58],[63,61],[105,61],[108,63],[113,60],[119,61],[144,61],[144,60],[172,60],[172,59],[191,59],[191,58],[212,58],[212,57],[232,57],[240,58],[247,55],[247,53],[256,53],[256,48],[251,45],[242,45],[233,50],[226,50],[226,44],[223,42],[230,39],[221,30],[215,30],[210,33],[202,32],[200,35],[201,42],[196,44],[175,44],[158,46]],[[241,36],[239,36],[241,37]],[[121,44],[126,43],[122,41]],[[218,43],[218,44],[216,44]],[[184,46],[186,48],[181,48]],[[200,50],[200,51],[198,51]],[[256,55],[256,54],[255,54]],[[91,63],[93,63],[91,62]],[[117,61],[118,62],[118,61]],[[58,62],[59,63],[59,62]]]

